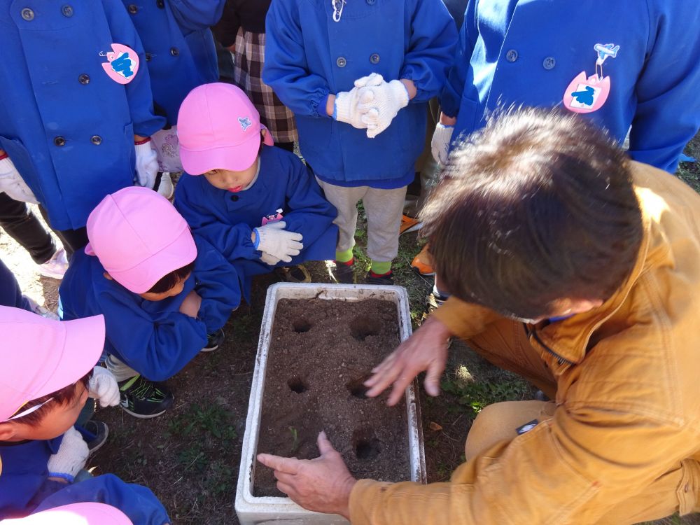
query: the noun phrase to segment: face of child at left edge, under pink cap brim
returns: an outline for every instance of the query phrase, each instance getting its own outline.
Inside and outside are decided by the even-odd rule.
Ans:
[[[0,440],[24,441],[24,440],[52,440],[66,433],[76,421],[80,410],[87,401],[87,388],[83,381],[76,383],[76,395],[67,405],[61,405],[53,400],[46,404],[51,407],[36,425],[27,425],[19,421],[7,421],[0,423]]]

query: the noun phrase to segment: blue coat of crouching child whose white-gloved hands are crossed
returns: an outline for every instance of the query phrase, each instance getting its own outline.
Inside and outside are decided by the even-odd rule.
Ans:
[[[304,237],[301,253],[279,266],[335,257],[335,207],[323,198],[304,163],[280,148],[262,147],[258,179],[250,189],[238,193],[214,188],[204,176],[183,174],[175,190],[175,207],[197,235],[241,269],[246,298],[249,277],[272,269],[260,260],[262,253],[253,246],[251,232],[262,225],[262,218],[276,216],[278,209],[286,230]]]

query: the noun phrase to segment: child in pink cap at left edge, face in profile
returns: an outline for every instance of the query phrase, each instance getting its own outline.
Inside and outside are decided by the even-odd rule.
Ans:
[[[118,507],[134,525],[169,523],[143,486],[113,475],[73,482],[71,460],[85,442],[71,428],[87,396],[100,397],[90,377],[104,344],[102,316],[59,322],[0,306],[0,333],[0,519],[99,502]]]

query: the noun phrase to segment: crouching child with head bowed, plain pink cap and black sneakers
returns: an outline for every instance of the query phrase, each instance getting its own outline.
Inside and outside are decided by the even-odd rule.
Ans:
[[[223,342],[240,299],[237,271],[148,188],[107,195],[87,219],[87,237],[59,289],[62,317],[104,314],[106,366],[122,408],[158,416],[173,396],[153,381]]]

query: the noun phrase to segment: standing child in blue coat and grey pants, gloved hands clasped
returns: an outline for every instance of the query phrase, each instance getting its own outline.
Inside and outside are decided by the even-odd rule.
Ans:
[[[272,2],[266,26],[262,79],[294,112],[301,153],[338,210],[337,280],[353,280],[362,200],[367,283],[391,284],[406,186],[428,100],[453,59],[454,21],[440,0],[286,0]]]

